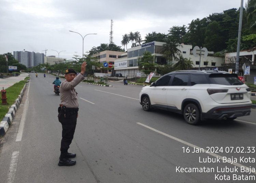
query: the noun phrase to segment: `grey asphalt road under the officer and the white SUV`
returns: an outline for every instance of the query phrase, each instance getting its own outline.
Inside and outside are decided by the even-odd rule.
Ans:
[[[255,109],[233,122],[209,120],[192,126],[175,113],[143,111],[138,100],[142,87],[122,82],[76,87],[79,117],[69,151],[77,154],[77,163],[58,167],[60,96],[53,92],[54,79],[31,75],[1,140],[1,183],[255,182],[236,180],[256,177],[255,171],[242,172],[256,167]],[[229,176],[232,181],[226,180]]]

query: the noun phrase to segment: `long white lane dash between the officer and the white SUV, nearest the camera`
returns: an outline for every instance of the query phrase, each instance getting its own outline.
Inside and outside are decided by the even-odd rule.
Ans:
[[[191,143],[186,142],[186,141],[184,141],[184,140],[181,140],[181,139],[179,139],[179,138],[176,138],[176,137],[173,137],[173,136],[168,135],[168,134],[166,134],[166,133],[163,133],[163,132],[161,132],[161,131],[159,131],[159,130],[157,130],[157,129],[155,129],[155,128],[152,128],[152,127],[150,127],[150,126],[144,125],[144,124],[142,124],[142,123],[137,123],[137,124],[139,124],[139,125],[141,125],[141,126],[144,126],[144,127],[148,128],[148,129],[151,129],[152,131],[157,132],[157,133],[159,133],[159,134],[161,134],[161,135],[164,135],[164,136],[166,136],[166,137],[169,137],[169,138],[171,138],[171,139],[173,139],[173,140],[176,140],[176,141],[178,141],[178,142],[181,142],[181,143],[183,143],[183,144],[185,144],[185,145],[187,145],[187,146],[190,146],[191,148],[203,149],[203,148],[200,148],[200,147],[198,147],[198,146],[195,146],[194,144],[191,144]],[[205,150],[205,149],[203,149],[203,152],[204,152],[204,153],[207,153],[207,154],[209,154],[209,155],[211,155],[211,156],[214,156],[214,157],[217,157],[217,158],[220,158],[220,159],[223,160],[223,156],[219,156],[219,155],[217,155],[217,154],[215,154],[215,153],[208,153],[207,150]],[[234,166],[237,166],[237,167],[248,168],[248,170],[250,169],[252,173],[256,174],[256,172],[252,171],[252,168],[246,167],[246,166],[241,165],[241,164],[239,164],[239,163],[229,163],[229,164],[234,165]]]

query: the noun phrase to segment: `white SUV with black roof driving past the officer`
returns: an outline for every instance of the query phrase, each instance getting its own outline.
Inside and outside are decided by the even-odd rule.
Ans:
[[[140,92],[143,110],[183,114],[195,125],[205,119],[234,120],[251,113],[251,90],[236,74],[224,71],[174,71]]]

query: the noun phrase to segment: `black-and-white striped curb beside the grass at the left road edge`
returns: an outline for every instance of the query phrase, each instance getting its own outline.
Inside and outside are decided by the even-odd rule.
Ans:
[[[27,83],[24,85],[22,91],[20,92],[18,98],[15,100],[14,104],[9,108],[9,111],[3,117],[2,121],[0,122],[0,136],[4,136],[8,131],[12,120],[15,116],[15,113],[19,107],[20,101],[22,100],[22,96],[25,92]]]

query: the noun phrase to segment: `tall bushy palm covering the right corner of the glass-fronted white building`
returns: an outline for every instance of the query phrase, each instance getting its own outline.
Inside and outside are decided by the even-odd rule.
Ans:
[[[175,41],[172,42],[169,38],[164,38],[163,41],[166,42],[166,44],[163,45],[164,48],[161,52],[163,54],[163,57],[165,57],[168,61],[171,61],[171,63],[169,64],[172,64],[172,61],[177,59],[176,55],[181,54],[181,50],[179,50],[179,48],[177,47],[183,46]]]

